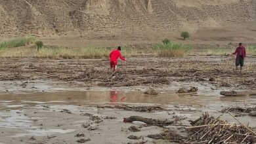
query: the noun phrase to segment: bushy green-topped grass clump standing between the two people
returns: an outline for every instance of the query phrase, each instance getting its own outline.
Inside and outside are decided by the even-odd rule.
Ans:
[[[184,57],[192,49],[192,46],[169,41],[157,44],[154,49],[160,57]]]

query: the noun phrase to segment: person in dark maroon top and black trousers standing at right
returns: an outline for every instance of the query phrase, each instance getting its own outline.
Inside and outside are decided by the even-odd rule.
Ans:
[[[240,71],[242,71],[244,58],[246,57],[246,50],[242,43],[239,43],[238,48],[236,48],[236,51],[233,54],[236,54],[236,70],[238,70],[238,65],[240,65]]]

